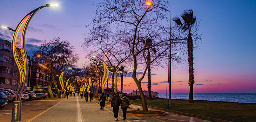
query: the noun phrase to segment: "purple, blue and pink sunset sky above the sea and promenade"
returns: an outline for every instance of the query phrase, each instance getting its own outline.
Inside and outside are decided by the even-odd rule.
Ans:
[[[44,40],[60,37],[75,47],[80,60],[86,62],[81,44],[86,24],[92,21],[101,0],[0,0],[0,25],[16,28],[20,20],[33,9],[47,3],[58,7],[39,10],[29,23],[26,51],[32,55],[35,46]],[[193,9],[200,21],[203,43],[194,50],[194,93],[256,93],[256,1],[255,0],[170,0],[171,18],[184,9]],[[0,28],[0,39],[12,40],[13,32]],[[185,56],[187,57],[187,56]],[[166,93],[168,70],[152,69],[152,91]],[[138,75],[140,77],[141,75]],[[189,93],[188,63],[171,69],[171,92]],[[110,81],[111,82],[111,81]],[[110,84],[111,86],[111,84]],[[124,92],[137,88],[132,77],[124,78]],[[147,90],[147,77],[142,81]],[[118,83],[120,90],[120,81]]]

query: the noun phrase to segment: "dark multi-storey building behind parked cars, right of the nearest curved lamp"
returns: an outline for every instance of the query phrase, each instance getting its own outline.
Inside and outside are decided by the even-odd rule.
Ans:
[[[31,79],[30,79],[30,71],[31,71]],[[28,62],[28,87],[30,81],[30,90],[35,91],[45,91],[48,86],[48,82],[50,79],[50,69],[45,67],[40,62],[31,61]]]

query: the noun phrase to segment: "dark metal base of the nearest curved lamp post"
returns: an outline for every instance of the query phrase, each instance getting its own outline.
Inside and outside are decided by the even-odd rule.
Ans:
[[[22,101],[13,101],[12,122],[22,122],[21,121],[21,104],[22,104]]]

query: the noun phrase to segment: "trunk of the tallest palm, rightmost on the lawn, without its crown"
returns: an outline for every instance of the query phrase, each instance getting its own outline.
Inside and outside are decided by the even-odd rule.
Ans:
[[[188,102],[193,103],[194,66],[193,66],[193,41],[191,33],[188,34],[188,70],[189,70],[189,98]]]

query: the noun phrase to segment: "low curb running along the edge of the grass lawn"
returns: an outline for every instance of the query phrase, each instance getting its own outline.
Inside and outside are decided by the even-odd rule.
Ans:
[[[131,102],[131,104],[142,106],[141,104],[135,104],[135,103],[132,103],[132,102]],[[215,119],[215,118],[206,117],[206,116],[200,116],[200,115],[188,114],[188,113],[183,113],[183,112],[177,112],[175,110],[168,110],[168,109],[164,109],[164,108],[157,108],[157,107],[152,107],[152,106],[148,106],[148,108],[164,110],[164,111],[170,112],[170,113],[175,113],[175,114],[179,114],[179,115],[194,117],[194,118],[198,118],[198,119],[202,119],[202,120],[209,120],[209,121],[213,121],[213,122],[232,122],[232,121]]]

